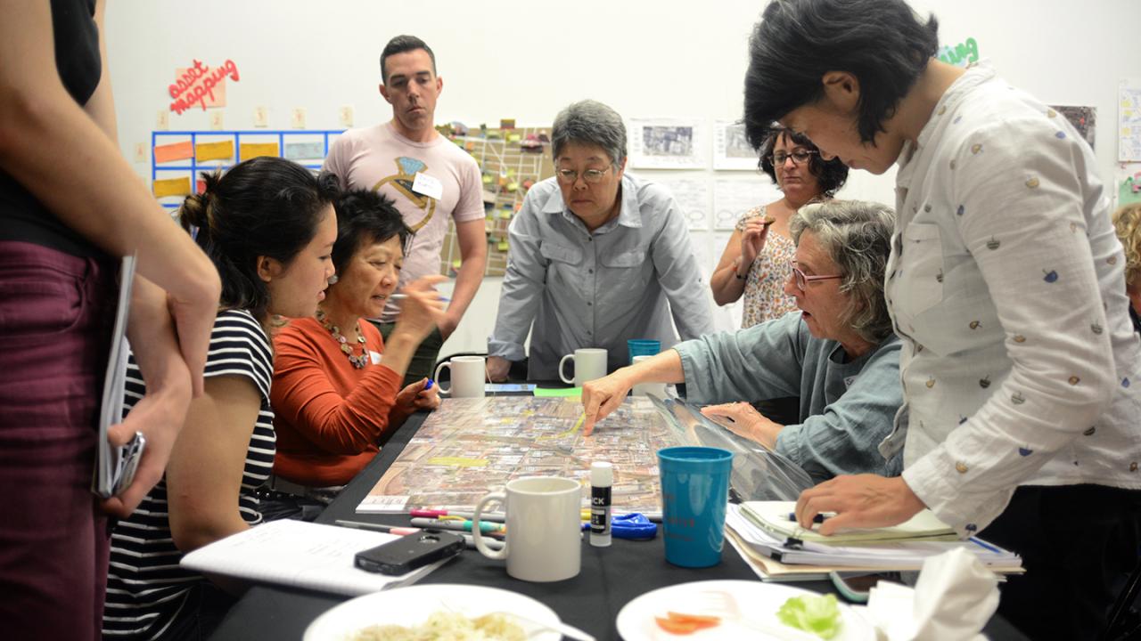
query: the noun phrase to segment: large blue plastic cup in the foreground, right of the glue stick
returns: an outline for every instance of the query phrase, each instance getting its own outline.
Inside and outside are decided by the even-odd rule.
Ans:
[[[683,568],[720,563],[733,453],[717,447],[667,447],[658,451],[657,465],[665,560]]]

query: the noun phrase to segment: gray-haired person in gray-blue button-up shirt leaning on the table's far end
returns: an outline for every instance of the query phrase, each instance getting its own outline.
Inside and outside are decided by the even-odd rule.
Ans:
[[[685,216],[669,190],[625,172],[622,117],[574,103],[555,119],[551,151],[555,177],[527,192],[508,229],[491,379],[523,360],[528,331],[531,380],[558,379],[559,359],[578,348],[606,349],[613,372],[629,363],[630,339],[670,347],[674,325],[683,339],[712,332]]]

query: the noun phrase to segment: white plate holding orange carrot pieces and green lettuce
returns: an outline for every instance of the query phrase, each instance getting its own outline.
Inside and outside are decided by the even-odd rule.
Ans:
[[[618,612],[618,634],[625,641],[712,641],[713,639],[779,639],[769,636],[755,630],[736,625],[725,616],[725,608],[719,607],[719,598],[703,593],[721,592],[731,594],[744,618],[769,626],[784,626],[777,619],[777,610],[791,597],[818,593],[788,585],[761,583],[759,581],[698,581],[662,587],[647,592],[630,601]],[[712,606],[712,607],[711,607]],[[721,625],[699,630],[686,636],[670,634],[657,626],[654,617],[664,617],[669,610],[689,615],[721,616]],[[859,615],[843,603],[840,603],[840,615],[843,617],[843,628],[833,641],[875,641],[875,630]],[[795,630],[790,628],[795,634]]]

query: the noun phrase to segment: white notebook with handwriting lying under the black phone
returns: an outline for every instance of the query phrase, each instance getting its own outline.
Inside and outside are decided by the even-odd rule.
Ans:
[[[357,552],[399,538],[395,534],[281,520],[227,536],[183,557],[184,568],[259,583],[356,597],[411,585],[450,559],[388,576],[354,567]]]

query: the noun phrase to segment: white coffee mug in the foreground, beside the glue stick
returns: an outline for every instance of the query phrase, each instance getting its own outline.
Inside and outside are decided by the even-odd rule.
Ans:
[[[503,492],[479,500],[472,521],[488,503],[507,512],[502,550],[491,550],[479,528],[471,535],[476,549],[492,559],[507,559],[507,574],[520,581],[551,582],[577,576],[582,567],[582,489],[578,481],[559,477],[523,477],[508,481]]]

